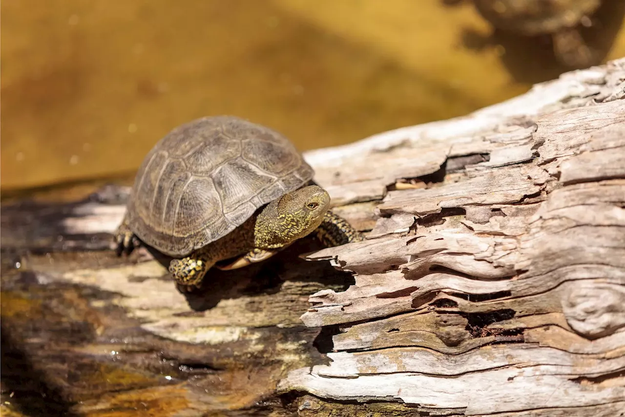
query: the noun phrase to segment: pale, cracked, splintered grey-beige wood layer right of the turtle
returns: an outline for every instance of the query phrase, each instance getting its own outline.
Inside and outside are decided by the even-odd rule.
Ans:
[[[417,126],[381,136],[387,150],[370,140],[364,156],[334,152],[336,173],[320,181],[333,198],[365,200],[362,182],[389,191],[369,240],[307,255],[356,284],[310,297],[301,319],[334,326],[331,363],[291,371],[279,389],[464,415],[622,413],[625,102],[538,115],[520,102],[524,118],[481,131],[447,122],[453,136],[437,139]],[[450,157],[484,154],[445,170]]]

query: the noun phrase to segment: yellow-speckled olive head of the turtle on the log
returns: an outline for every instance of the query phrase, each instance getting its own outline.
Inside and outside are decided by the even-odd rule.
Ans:
[[[284,194],[267,204],[256,218],[256,247],[278,248],[317,229],[329,209],[330,196],[318,185]]]

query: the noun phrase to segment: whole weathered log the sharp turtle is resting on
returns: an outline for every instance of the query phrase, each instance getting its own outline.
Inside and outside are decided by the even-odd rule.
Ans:
[[[309,152],[368,239],[303,240],[198,294],[106,250],[128,188],[2,207],[3,408],[623,415],[624,96],[620,59]]]

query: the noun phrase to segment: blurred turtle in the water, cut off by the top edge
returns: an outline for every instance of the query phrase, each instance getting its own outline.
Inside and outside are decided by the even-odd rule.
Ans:
[[[551,36],[556,59],[585,68],[596,60],[579,31],[601,0],[472,0],[477,12],[495,28],[524,36]]]

